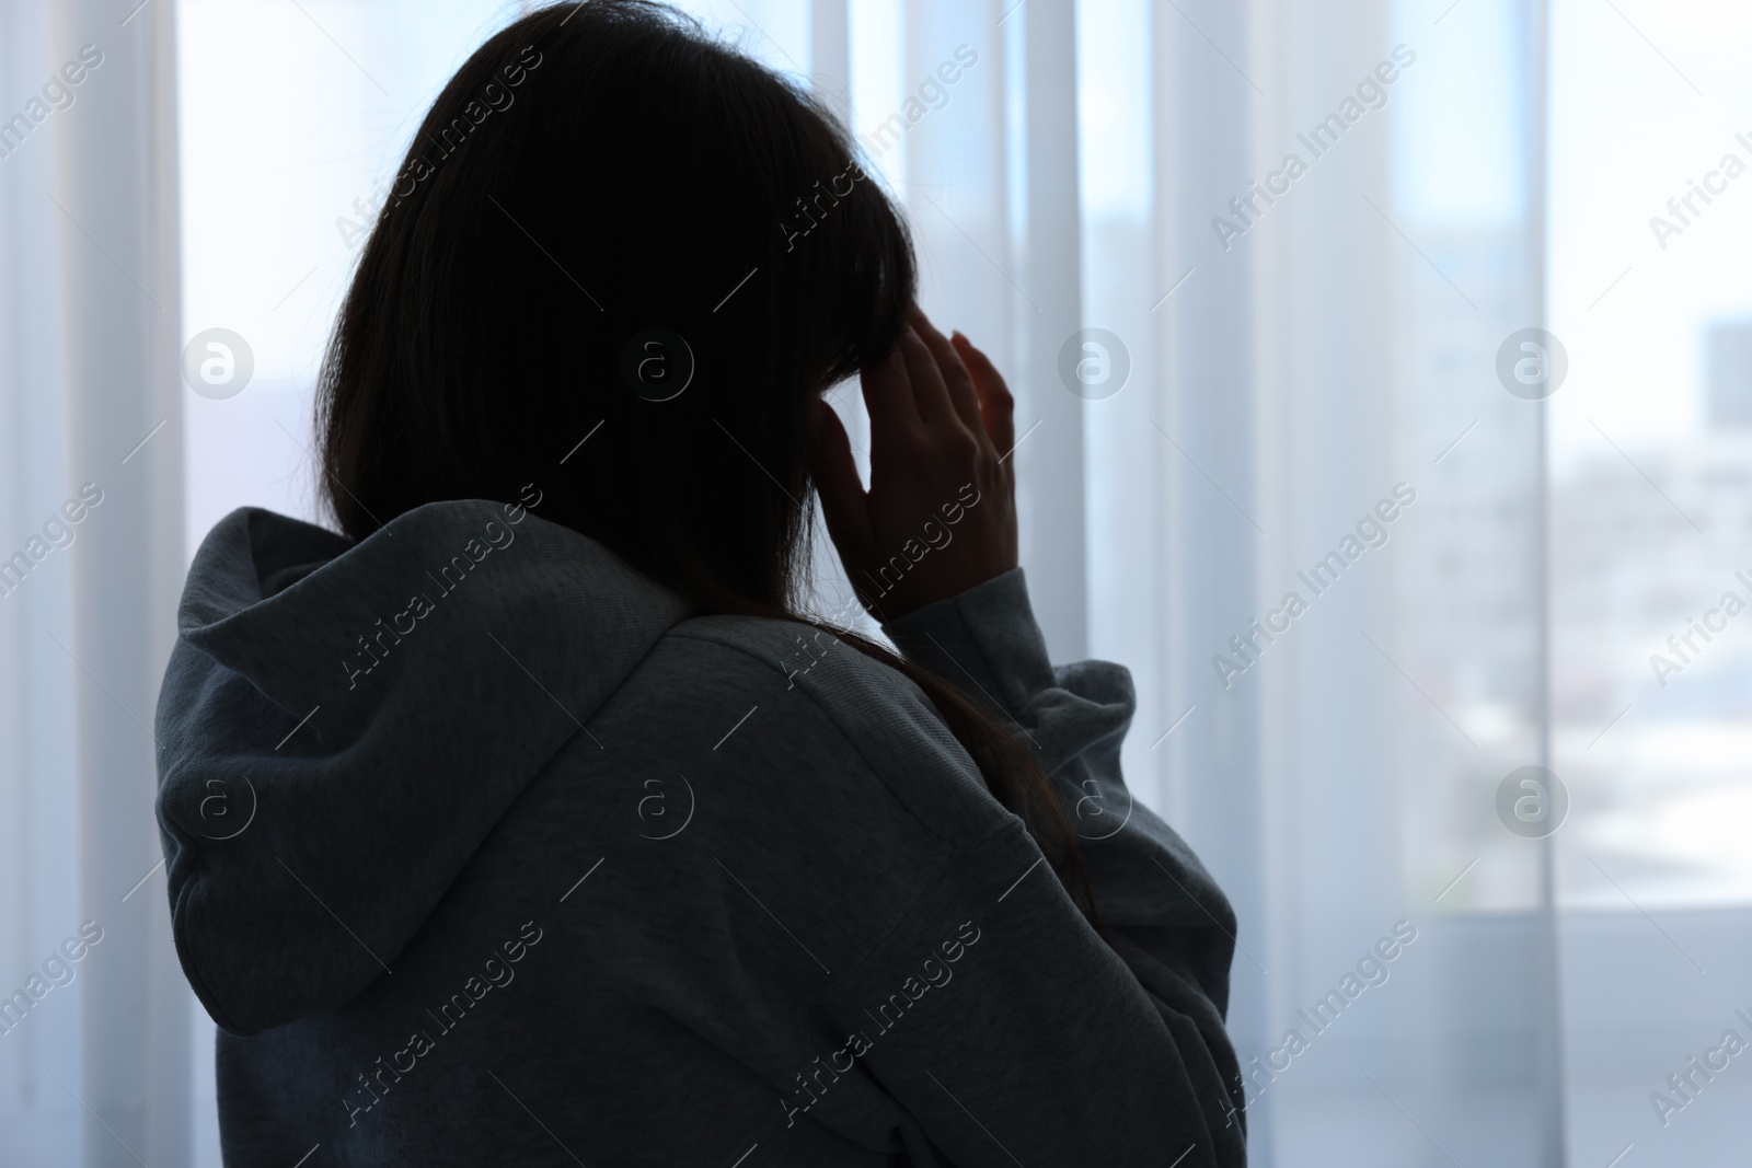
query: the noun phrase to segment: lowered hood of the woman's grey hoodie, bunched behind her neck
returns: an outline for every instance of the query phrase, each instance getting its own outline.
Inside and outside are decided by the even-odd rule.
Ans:
[[[335,1010],[385,975],[690,615],[538,504],[433,503],[359,543],[242,508],[196,552],[158,702],[158,821],[177,956],[224,1030]]]

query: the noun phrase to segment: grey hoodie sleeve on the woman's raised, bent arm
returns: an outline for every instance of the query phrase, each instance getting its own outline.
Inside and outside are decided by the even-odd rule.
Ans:
[[[1228,1145],[1214,1163],[1240,1163],[1242,1096],[1225,1087],[1240,1082],[1240,1070],[1223,1026],[1235,914],[1186,842],[1134,800],[1120,774],[1135,709],[1130,672],[1093,660],[1055,669],[1020,567],[885,630],[902,653],[997,707],[1039,748],[1079,837],[1100,940],[1148,995],[1200,1110],[1214,1117],[1212,1140]]]

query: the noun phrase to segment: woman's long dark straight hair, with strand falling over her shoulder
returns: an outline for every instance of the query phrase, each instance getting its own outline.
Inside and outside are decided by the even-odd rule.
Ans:
[[[415,135],[322,362],[340,529],[533,482],[543,518],[701,608],[806,620],[815,401],[894,348],[915,292],[906,226],[853,159],[806,93],[659,4],[494,35]],[[925,692],[1095,919],[1063,807],[995,711],[839,636]]]

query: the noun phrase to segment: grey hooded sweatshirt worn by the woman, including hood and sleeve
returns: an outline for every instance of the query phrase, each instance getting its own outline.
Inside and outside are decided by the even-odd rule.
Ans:
[[[1039,742],[1106,937],[909,681],[520,508],[235,511],[179,629],[228,1164],[1244,1161],[1233,914],[1125,790],[1130,676],[1055,671],[1020,571],[888,632]]]

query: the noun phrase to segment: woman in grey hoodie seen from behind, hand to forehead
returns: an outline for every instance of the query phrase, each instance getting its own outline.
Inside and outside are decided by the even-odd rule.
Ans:
[[[322,369],[340,534],[221,522],[159,702],[226,1163],[1242,1163],[1233,916],[851,159],[638,0],[438,96]],[[904,657],[799,615],[816,489]]]

